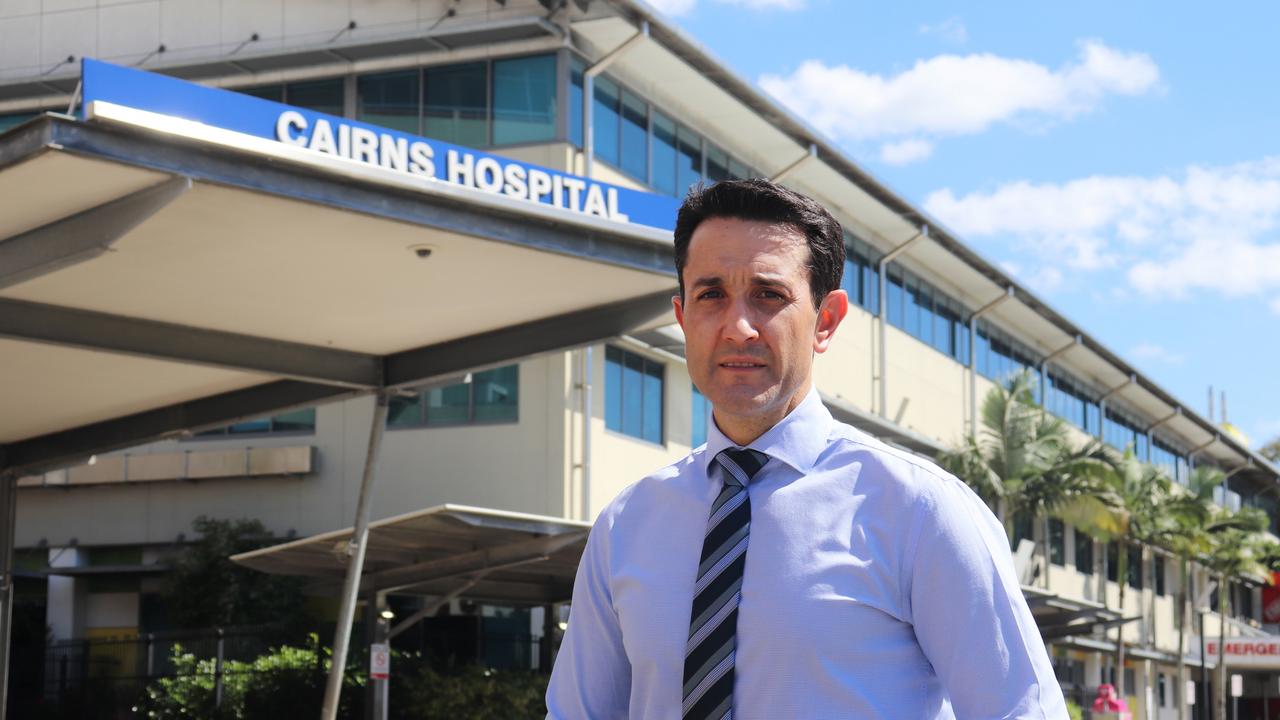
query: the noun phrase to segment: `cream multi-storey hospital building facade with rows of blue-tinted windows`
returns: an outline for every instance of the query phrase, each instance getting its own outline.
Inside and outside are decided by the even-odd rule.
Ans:
[[[1080,439],[1132,447],[1179,482],[1198,464],[1220,466],[1229,473],[1220,501],[1262,507],[1277,527],[1268,495],[1276,468],[643,3],[6,3],[0,131],[73,106],[83,56],[672,197],[699,182],[776,178],[820,200],[846,228],[851,311],[815,370],[837,416],[936,454],[974,432],[995,383],[1029,370],[1044,407]],[[486,281],[476,277],[474,292]],[[440,301],[458,313],[467,305]],[[47,578],[26,587],[52,637],[163,626],[165,559],[201,515],[255,518],[280,538],[348,527],[372,411],[370,398],[334,402],[20,480],[19,565]],[[393,401],[372,515],[462,503],[590,520],[623,487],[704,442],[708,418],[669,318],[612,342],[477,372]],[[1123,625],[1133,648],[1120,670],[1111,665],[1114,632],[1055,642],[1064,687],[1083,693],[1124,671],[1139,716],[1176,716],[1188,679],[1176,674],[1178,564],[1057,521],[1020,534],[1046,548],[1029,582],[1039,592],[1140,616]],[[1125,579],[1115,577],[1120,551],[1134,560]],[[1120,582],[1132,588],[1124,607]],[[1260,588],[1229,592],[1238,616],[1225,619],[1228,634],[1265,635]],[[1216,637],[1221,621],[1207,618],[1206,634]],[[1251,683],[1267,676],[1253,667]]]

